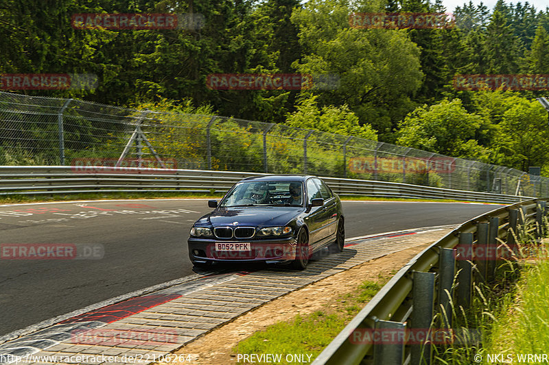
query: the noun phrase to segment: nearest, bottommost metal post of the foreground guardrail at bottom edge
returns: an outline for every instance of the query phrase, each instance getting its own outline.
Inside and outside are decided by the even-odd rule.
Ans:
[[[381,341],[374,342],[373,364],[374,365],[402,365],[404,362],[404,335],[406,334],[406,325],[401,322],[390,320],[376,320],[376,337]],[[384,332],[390,333],[390,343],[383,343]]]

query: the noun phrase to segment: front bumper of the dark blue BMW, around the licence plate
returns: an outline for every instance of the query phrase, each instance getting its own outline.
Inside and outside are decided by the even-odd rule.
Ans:
[[[250,251],[216,251],[215,242],[249,242]],[[192,262],[283,262],[296,257],[295,238],[268,238],[262,240],[215,240],[191,237],[187,240]]]

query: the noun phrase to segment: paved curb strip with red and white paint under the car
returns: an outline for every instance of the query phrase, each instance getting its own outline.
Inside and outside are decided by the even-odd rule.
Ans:
[[[437,229],[410,229],[403,231],[400,235],[391,233],[390,236],[353,240],[351,244],[346,244],[342,253],[324,255],[322,260],[310,262],[305,271],[275,267],[252,273],[245,271],[226,273],[186,281],[183,284],[154,292],[153,295],[137,297],[109,306],[117,312],[112,310],[109,312],[110,308],[102,307],[99,310],[69,318],[47,329],[0,344],[0,364],[14,362],[2,359],[2,355],[25,358],[29,355],[65,357],[87,354],[92,357],[93,354],[119,355],[122,353],[128,356],[146,356],[151,361],[143,361],[140,364],[150,364],[158,361],[162,355],[183,347],[198,336],[234,320],[259,305],[325,277],[340,273],[342,270],[412,247],[414,241],[417,241],[417,234],[430,232],[435,234],[436,230],[438,231],[436,232],[437,236],[442,236],[446,229],[452,227],[454,226],[436,227]],[[410,234],[412,235],[410,236]],[[163,301],[163,303],[153,302],[156,304],[148,308],[135,307],[135,303],[146,301],[146,297],[154,297],[156,301]],[[132,301],[134,303],[131,303]],[[133,313],[128,314],[127,311],[122,313],[128,305],[133,307]],[[101,312],[103,312],[103,317],[98,315]],[[86,321],[86,318],[90,320]],[[119,343],[110,346],[74,341],[75,331],[82,335],[86,331],[98,328],[101,328],[101,331],[128,331],[129,333],[167,331],[176,333],[177,340],[175,343],[158,344],[156,341],[154,344],[150,344],[142,340],[117,338]],[[27,362],[27,364],[29,363]],[[39,364],[56,363],[40,362]],[[89,360],[82,361],[80,364],[113,363]]]

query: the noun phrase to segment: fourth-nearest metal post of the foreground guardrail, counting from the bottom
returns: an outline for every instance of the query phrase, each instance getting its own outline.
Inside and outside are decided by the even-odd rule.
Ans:
[[[463,308],[471,305],[472,272],[471,262],[473,260],[473,234],[460,232],[459,249],[456,256],[458,264],[458,288],[456,304]]]

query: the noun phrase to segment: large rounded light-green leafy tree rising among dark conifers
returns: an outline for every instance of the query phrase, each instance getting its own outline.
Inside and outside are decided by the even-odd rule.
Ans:
[[[347,1],[312,0],[295,10],[305,53],[301,73],[336,75],[334,90],[314,91],[320,105],[349,105],[360,123],[371,123],[382,138],[413,108],[410,96],[421,85],[419,49],[405,31],[349,27],[350,12],[379,12],[369,2],[351,9]]]

